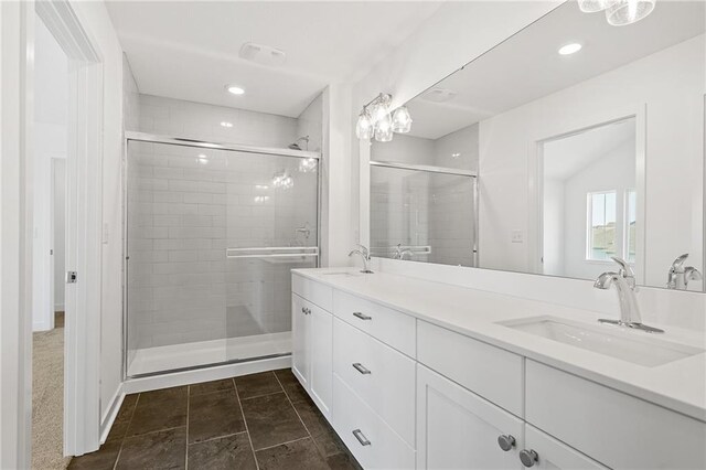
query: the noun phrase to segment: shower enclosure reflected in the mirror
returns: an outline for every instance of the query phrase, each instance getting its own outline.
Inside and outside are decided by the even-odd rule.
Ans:
[[[373,256],[478,266],[478,177],[470,170],[371,161]]]

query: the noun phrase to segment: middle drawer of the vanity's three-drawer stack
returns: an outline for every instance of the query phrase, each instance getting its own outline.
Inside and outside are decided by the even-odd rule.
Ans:
[[[415,447],[413,360],[334,319],[333,372],[410,447]]]

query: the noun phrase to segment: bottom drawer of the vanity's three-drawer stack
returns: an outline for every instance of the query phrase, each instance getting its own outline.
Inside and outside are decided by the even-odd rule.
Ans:
[[[407,446],[336,374],[333,374],[333,427],[363,468],[387,470],[415,468],[414,449]]]

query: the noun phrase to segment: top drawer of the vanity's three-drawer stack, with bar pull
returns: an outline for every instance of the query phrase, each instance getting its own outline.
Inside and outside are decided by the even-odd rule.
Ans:
[[[377,303],[333,291],[333,314],[383,343],[415,357],[415,318]]]

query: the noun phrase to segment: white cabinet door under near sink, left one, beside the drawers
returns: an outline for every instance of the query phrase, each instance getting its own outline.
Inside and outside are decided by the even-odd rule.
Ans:
[[[417,469],[523,469],[523,421],[417,365]],[[514,440],[509,450],[498,438]]]

